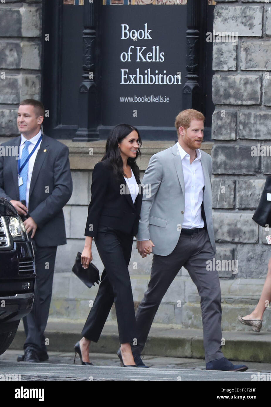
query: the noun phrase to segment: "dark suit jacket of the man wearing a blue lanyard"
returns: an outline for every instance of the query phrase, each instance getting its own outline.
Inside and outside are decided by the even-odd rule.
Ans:
[[[21,136],[2,146],[20,146]],[[73,191],[68,147],[46,136],[37,152],[29,190],[29,215],[37,223],[33,240],[37,245],[57,246],[66,243],[64,214]],[[20,201],[18,160],[0,157],[0,197]]]

